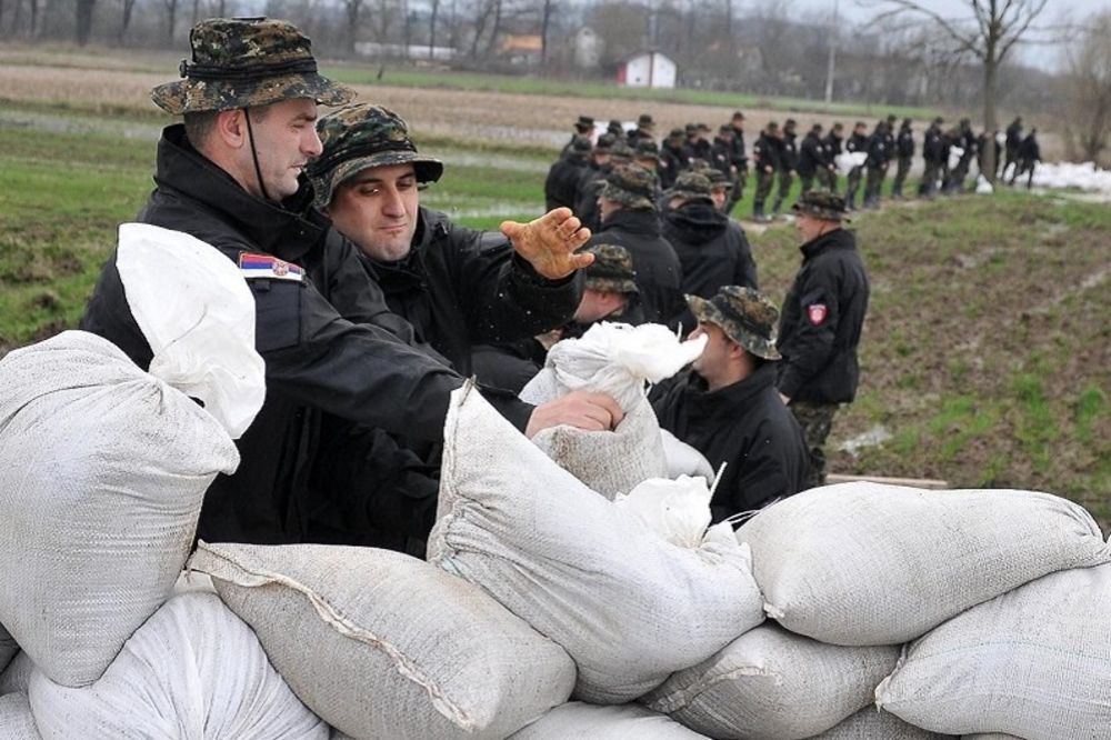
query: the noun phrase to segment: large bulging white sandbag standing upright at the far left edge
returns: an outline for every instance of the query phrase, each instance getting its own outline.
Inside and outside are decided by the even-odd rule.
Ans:
[[[239,452],[114,344],[67,331],[0,360],[0,622],[54,681],[97,680],[173,588]]]

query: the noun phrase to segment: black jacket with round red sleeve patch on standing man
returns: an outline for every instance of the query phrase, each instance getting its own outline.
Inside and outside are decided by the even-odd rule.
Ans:
[[[792,401],[847,403],[857,396],[857,346],[868,311],[869,282],[845,229],[801,248],[802,267],[780,313],[780,391]]]

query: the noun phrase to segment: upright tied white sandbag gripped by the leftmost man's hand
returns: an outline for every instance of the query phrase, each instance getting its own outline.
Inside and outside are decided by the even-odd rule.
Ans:
[[[705,338],[680,342],[661,324],[609,322],[591,327],[579,339],[558,342],[549,350],[544,368],[521,390],[521,398],[539,404],[574,390],[603,392],[617,400],[625,418],[613,431],[553,427],[536,434],[533,443],[591,490],[610,499],[628,493],[645,479],[669,476],[680,467],[680,457],[695,468],[680,472],[708,468],[700,468],[698,457],[678,440],[664,447],[644,394],[645,383],[673,376],[704,347]]]

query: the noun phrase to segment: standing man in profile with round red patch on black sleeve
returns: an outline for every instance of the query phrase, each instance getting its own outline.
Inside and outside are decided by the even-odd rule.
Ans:
[[[853,233],[841,228],[844,200],[810,191],[794,204],[802,267],[783,301],[777,386],[794,412],[814,461],[813,486],[825,482],[825,438],[842,403],[857,396],[857,347],[868,311],[869,280]]]

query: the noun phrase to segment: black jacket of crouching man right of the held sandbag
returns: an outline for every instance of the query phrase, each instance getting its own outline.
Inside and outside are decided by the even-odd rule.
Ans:
[[[725,463],[710,500],[713,521],[798,493],[810,474],[810,453],[794,414],[775,390],[775,364],[708,391],[693,371],[657,386],[652,408],[660,427],[709,460]]]

